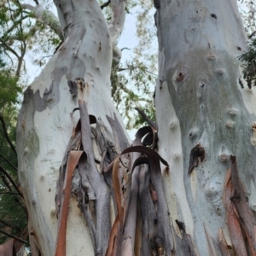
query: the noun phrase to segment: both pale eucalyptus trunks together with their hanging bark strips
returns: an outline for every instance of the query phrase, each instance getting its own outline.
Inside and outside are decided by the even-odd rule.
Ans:
[[[65,41],[26,90],[18,125],[20,186],[34,255],[37,247],[55,255],[57,237],[68,256],[255,255],[256,107],[254,91],[239,84],[237,56],[246,37],[236,1],[155,2],[158,148],[169,167],[162,168],[162,184],[160,157],[136,148],[145,128],[133,146],[150,157],[131,149],[125,154],[134,166],[147,165],[129,176],[119,171],[130,159],[121,167],[115,160],[113,189],[110,172],[102,169],[129,144],[110,96],[113,41],[96,2],[57,6]],[[79,201],[77,207],[75,197],[69,200],[67,246],[56,218],[65,226],[66,172],[74,175]],[[118,212],[112,231],[111,208]]]

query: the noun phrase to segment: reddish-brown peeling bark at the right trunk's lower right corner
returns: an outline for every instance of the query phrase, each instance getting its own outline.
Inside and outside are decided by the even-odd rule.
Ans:
[[[224,183],[224,206],[226,207],[227,224],[230,238],[236,255],[255,255],[255,217],[248,206],[247,192],[238,175],[236,156],[230,155],[230,169],[228,169]],[[221,250],[225,251],[225,242],[218,234]]]

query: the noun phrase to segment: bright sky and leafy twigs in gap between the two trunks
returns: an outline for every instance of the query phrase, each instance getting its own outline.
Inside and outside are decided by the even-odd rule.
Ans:
[[[154,85],[158,71],[153,2],[137,0],[133,11],[137,11],[137,47],[131,58],[111,73],[113,102],[128,130],[146,125],[135,108],[142,108],[155,121]]]

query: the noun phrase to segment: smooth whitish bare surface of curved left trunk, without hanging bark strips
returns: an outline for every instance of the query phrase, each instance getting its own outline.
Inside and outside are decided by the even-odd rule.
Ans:
[[[17,134],[20,186],[32,226],[29,231],[44,256],[55,254],[56,183],[73,126],[79,119],[76,112],[73,121],[70,113],[78,108],[81,99],[87,102],[88,112],[111,133],[106,115],[122,124],[110,89],[114,32],[110,35],[102,10],[96,1],[67,0],[56,5],[65,40],[27,88]],[[77,96],[69,91],[68,81],[78,85]],[[112,139],[116,139],[113,134]],[[67,255],[94,255],[89,228],[77,205],[76,199],[71,198]],[[108,223],[110,219],[106,219]]]

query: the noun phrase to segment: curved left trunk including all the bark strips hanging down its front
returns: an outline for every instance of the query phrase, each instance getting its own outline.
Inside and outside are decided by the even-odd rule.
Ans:
[[[108,26],[96,1],[55,3],[64,41],[27,88],[18,120],[32,253],[170,255],[160,161],[168,164],[152,149],[157,126],[144,115],[151,127],[139,130],[128,148],[111,101],[110,70],[125,1],[112,2]]]

